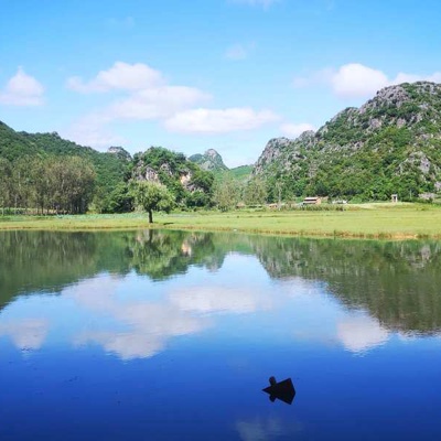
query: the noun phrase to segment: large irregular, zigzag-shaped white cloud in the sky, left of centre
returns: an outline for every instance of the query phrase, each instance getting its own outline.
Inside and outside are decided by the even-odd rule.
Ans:
[[[195,87],[168,85],[159,71],[137,63],[116,62],[89,82],[67,79],[67,86],[83,94],[119,92],[122,97],[77,120],[66,133],[76,142],[96,148],[123,143],[107,126],[115,120],[158,120],[211,99]]]

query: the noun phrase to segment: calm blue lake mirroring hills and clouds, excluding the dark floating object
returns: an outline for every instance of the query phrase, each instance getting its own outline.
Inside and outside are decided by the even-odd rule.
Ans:
[[[441,243],[0,233],[0,440],[284,439],[441,439]]]

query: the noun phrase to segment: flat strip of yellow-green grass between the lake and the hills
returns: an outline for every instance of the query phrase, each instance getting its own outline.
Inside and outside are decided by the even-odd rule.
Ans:
[[[172,228],[237,230],[289,236],[441,238],[441,208],[419,204],[359,204],[344,211],[237,211],[147,215],[0,216],[0,229]]]

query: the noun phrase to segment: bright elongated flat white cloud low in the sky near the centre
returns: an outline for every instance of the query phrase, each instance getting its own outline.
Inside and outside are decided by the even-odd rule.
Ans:
[[[256,111],[248,107],[227,109],[191,109],[165,120],[168,130],[184,133],[226,133],[257,129],[279,117],[271,110]]]

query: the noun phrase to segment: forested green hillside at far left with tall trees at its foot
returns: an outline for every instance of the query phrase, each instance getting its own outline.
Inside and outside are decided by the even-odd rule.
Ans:
[[[131,159],[121,148],[109,150],[101,153],[56,132],[17,132],[0,122],[0,205],[83,213],[93,204],[109,211]]]

